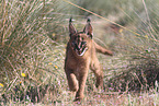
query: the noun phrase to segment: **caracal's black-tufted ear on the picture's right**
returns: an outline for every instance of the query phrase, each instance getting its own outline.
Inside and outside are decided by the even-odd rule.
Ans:
[[[93,37],[93,28],[92,28],[91,20],[90,20],[90,19],[88,19],[87,25],[84,26],[83,32],[84,32],[89,37],[91,37],[91,38]]]

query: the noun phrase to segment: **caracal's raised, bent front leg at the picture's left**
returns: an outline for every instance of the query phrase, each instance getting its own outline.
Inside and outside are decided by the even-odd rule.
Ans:
[[[77,92],[79,86],[78,86],[78,81],[77,81],[75,73],[68,69],[66,69],[65,72],[67,75],[67,81],[68,81],[68,85],[69,85],[70,91]]]

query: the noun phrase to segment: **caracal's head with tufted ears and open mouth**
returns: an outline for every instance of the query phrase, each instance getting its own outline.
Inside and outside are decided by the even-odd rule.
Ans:
[[[87,25],[84,26],[82,32],[77,32],[72,25],[71,19],[69,20],[69,33],[70,40],[69,44],[71,49],[77,54],[77,56],[83,56],[92,43],[92,26],[90,24],[90,19],[88,19]]]

